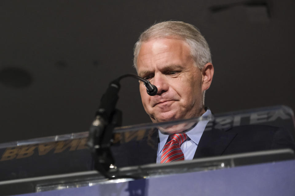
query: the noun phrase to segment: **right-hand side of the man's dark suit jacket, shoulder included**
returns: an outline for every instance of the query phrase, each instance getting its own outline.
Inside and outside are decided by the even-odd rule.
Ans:
[[[282,148],[295,149],[287,130],[266,125],[244,125],[228,130],[204,131],[194,158]]]

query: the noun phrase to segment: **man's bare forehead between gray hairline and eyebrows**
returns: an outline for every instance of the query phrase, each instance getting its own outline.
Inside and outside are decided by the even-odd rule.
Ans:
[[[190,46],[184,40],[158,38],[141,44],[137,68],[140,71],[155,66],[182,65],[191,60]]]

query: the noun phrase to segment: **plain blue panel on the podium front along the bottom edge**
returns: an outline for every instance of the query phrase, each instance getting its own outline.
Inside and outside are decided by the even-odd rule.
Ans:
[[[121,182],[120,182],[121,181]],[[91,185],[91,184],[90,184]],[[131,195],[295,195],[295,160],[218,170],[111,180],[90,187],[45,191],[22,196]]]

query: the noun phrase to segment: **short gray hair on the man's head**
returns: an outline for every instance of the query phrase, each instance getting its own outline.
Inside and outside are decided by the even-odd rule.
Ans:
[[[141,33],[133,50],[133,66],[136,70],[137,57],[142,42],[168,36],[177,36],[187,42],[187,44],[191,47],[191,56],[195,61],[195,66],[197,66],[200,70],[203,69],[206,63],[212,62],[208,43],[198,28],[194,25],[181,21],[165,21],[156,23]]]

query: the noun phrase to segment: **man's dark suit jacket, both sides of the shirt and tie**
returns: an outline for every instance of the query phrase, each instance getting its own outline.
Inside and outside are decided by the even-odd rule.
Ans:
[[[143,140],[121,146],[119,154],[124,156],[124,160],[122,157],[117,159],[117,166],[156,163],[158,138],[158,130],[153,130]],[[283,128],[266,125],[236,126],[228,130],[204,131],[194,158],[282,148],[295,150],[292,136]]]

